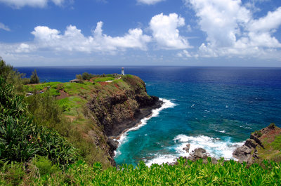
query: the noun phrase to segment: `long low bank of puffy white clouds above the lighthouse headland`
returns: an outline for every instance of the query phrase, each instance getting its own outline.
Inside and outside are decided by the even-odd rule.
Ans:
[[[34,46],[39,50],[80,51],[91,53],[95,51],[109,52],[126,48],[147,49],[151,37],[143,34],[142,29],[129,29],[124,36],[107,36],[103,34],[103,22],[98,22],[92,36],[84,36],[81,29],[68,26],[63,34],[57,29],[38,26],[34,28]]]

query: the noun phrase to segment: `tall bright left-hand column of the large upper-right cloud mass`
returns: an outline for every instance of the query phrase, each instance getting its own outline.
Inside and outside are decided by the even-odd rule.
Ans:
[[[213,46],[233,46],[240,25],[249,22],[249,11],[235,0],[190,0],[188,1],[199,20],[202,31],[207,32],[207,41]]]

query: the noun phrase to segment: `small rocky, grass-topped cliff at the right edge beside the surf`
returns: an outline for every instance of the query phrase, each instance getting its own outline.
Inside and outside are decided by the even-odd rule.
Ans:
[[[281,128],[270,124],[251,133],[250,138],[233,152],[233,157],[241,163],[259,163],[266,160],[281,161]]]

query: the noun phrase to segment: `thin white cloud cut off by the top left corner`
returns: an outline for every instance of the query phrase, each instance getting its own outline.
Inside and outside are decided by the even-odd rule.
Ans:
[[[43,8],[47,6],[50,1],[57,6],[61,6],[65,2],[65,0],[0,0],[0,3],[4,3],[15,8],[22,8],[23,6]]]

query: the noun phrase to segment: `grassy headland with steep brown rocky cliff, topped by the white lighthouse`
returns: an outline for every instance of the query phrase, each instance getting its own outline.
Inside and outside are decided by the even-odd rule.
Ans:
[[[39,112],[34,114],[37,116],[35,119],[43,123],[50,113],[46,112],[44,116],[38,107],[41,107],[41,102],[51,101],[40,100],[40,97],[44,94],[56,96],[56,102],[63,111],[61,117],[65,120],[60,126],[49,124],[49,127],[55,128],[72,142],[86,162],[93,164],[100,161],[104,168],[115,165],[113,152],[117,144],[108,136],[119,135],[141,117],[150,114],[150,109],[161,106],[157,97],[146,93],[145,83],[131,75],[115,79],[93,78],[82,84],[34,84],[27,86],[27,89],[35,94],[27,98],[34,107],[31,108],[33,112]]]

